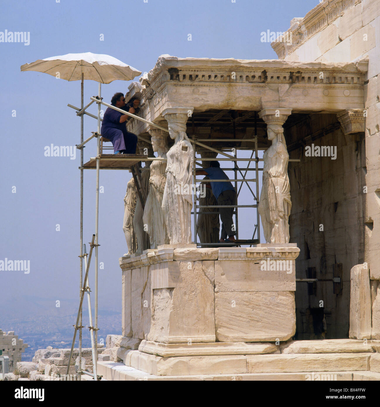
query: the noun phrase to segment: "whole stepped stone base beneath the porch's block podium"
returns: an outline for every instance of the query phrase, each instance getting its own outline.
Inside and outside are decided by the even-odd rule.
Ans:
[[[163,344],[120,348],[98,362],[106,380],[379,380],[380,341]]]

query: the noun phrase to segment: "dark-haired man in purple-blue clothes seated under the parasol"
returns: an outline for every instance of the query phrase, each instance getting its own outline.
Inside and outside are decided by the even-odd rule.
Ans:
[[[115,93],[112,96],[111,105],[122,109],[125,106],[124,95],[121,92]],[[135,113],[135,109],[130,107],[129,113]],[[115,154],[136,154],[137,136],[127,131],[126,127],[126,122],[130,117],[111,107],[107,107],[105,111],[100,133],[112,142]]]

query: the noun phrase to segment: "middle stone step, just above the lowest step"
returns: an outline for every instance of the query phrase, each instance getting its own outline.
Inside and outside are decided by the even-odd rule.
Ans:
[[[160,357],[131,350],[124,363],[155,376],[198,374],[351,372],[370,370],[371,353],[305,353]],[[376,360],[377,362],[377,360]],[[377,363],[373,363],[377,365]]]

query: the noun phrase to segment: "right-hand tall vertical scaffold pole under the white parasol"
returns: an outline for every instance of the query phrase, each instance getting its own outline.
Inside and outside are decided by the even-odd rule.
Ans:
[[[98,98],[101,96],[102,84],[99,82]],[[100,134],[100,103],[98,103],[98,134]],[[97,137],[97,158],[96,158],[96,208],[95,208],[95,361],[96,371],[98,363],[98,226],[99,226],[99,169],[100,169],[100,137]]]

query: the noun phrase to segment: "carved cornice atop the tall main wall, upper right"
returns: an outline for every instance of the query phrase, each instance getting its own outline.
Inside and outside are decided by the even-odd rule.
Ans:
[[[286,55],[293,53],[299,46],[308,41],[315,34],[332,24],[343,13],[361,0],[325,0],[310,10],[304,18],[295,18],[287,30],[290,42],[281,42],[281,37],[271,43],[279,59],[284,59]]]

